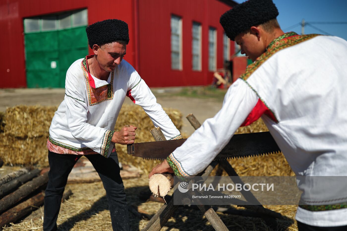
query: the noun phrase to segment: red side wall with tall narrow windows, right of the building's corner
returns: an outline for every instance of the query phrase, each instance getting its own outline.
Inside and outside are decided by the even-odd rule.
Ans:
[[[136,1],[136,0],[135,0]],[[231,1],[230,1],[231,2]],[[208,71],[208,31],[217,29],[217,68],[223,68],[223,28],[220,16],[231,7],[218,0],[139,0],[139,74],[152,87],[211,84]],[[171,70],[171,15],[182,18],[182,70]],[[192,24],[202,25],[202,70],[192,70]],[[230,53],[234,43],[230,43]]]

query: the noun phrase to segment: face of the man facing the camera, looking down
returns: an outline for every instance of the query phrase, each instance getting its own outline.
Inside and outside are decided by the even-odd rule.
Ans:
[[[100,68],[111,72],[115,70],[117,65],[123,60],[126,50],[127,45],[113,42],[100,46],[96,53],[94,50],[94,54],[98,55],[97,59]]]

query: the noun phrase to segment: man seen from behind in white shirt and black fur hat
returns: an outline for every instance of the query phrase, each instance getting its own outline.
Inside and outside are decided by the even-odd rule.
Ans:
[[[154,173],[179,177],[202,172],[239,126],[260,117],[303,191],[299,230],[347,230],[347,42],[335,36],[284,33],[271,0],[249,0],[220,17],[231,40],[253,63],[207,119]],[[264,157],[266,158],[266,157]],[[334,176],[310,184],[307,176]],[[319,178],[320,180],[326,178]],[[333,188],[328,183],[335,183]]]

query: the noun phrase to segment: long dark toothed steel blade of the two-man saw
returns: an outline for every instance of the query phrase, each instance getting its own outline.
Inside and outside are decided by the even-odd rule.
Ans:
[[[134,143],[128,145],[128,154],[144,159],[166,159],[186,139]],[[270,132],[255,132],[232,136],[230,142],[216,156],[216,160],[265,155],[281,152]]]

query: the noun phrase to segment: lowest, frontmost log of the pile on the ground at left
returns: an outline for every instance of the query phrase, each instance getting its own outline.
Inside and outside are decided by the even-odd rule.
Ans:
[[[39,194],[29,198],[25,202],[20,203],[19,205],[7,210],[5,213],[0,215],[0,227],[9,224],[10,222],[16,222],[22,217],[28,215],[33,210],[37,209],[43,204],[43,194]]]

